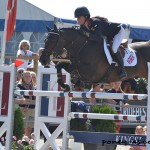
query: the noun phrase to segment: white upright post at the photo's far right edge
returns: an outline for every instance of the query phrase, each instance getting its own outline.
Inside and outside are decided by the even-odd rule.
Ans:
[[[148,99],[147,99],[147,140],[146,149],[150,150],[150,63],[148,63]]]

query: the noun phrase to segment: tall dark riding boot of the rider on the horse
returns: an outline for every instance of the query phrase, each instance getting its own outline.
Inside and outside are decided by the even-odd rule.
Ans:
[[[120,78],[123,80],[127,77],[127,73],[126,73],[125,68],[124,68],[123,58],[122,58],[120,51],[115,53],[115,58],[116,58],[116,61],[118,62],[119,66],[121,68]]]

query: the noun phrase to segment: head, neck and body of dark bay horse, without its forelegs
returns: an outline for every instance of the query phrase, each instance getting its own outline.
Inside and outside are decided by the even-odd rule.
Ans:
[[[46,65],[53,53],[60,55],[65,48],[70,61],[78,70],[79,77],[83,82],[103,82],[110,64],[104,53],[104,41],[101,44],[88,40],[80,30],[74,28],[62,28],[58,32],[49,32],[45,40],[45,50],[40,57],[42,65]],[[148,77],[147,62],[150,62],[150,41],[129,44],[137,55],[137,64],[125,67],[128,78]],[[107,83],[120,81],[119,67],[115,67],[107,77]]]

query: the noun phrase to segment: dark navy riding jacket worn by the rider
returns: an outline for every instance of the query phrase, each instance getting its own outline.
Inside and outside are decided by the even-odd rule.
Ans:
[[[89,18],[87,25],[81,25],[83,34],[90,40],[100,41],[102,36],[113,38],[121,30],[121,25],[118,23],[111,23],[98,18]]]

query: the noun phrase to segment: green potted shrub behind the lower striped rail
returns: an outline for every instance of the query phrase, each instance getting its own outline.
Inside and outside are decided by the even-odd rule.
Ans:
[[[109,107],[108,105],[93,106],[91,108],[91,113],[101,113],[101,114],[117,114],[117,112]],[[116,122],[114,120],[102,120],[102,119],[91,119],[92,132],[116,132]],[[115,145],[100,145],[100,144],[88,144],[84,143],[85,150],[113,150]]]

